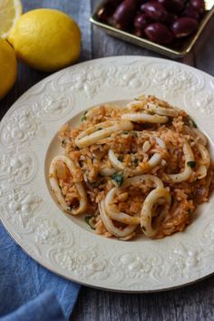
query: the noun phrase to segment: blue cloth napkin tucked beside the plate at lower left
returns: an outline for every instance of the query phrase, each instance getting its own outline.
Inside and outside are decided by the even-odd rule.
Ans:
[[[64,321],[80,286],[29,258],[0,223],[0,321]]]

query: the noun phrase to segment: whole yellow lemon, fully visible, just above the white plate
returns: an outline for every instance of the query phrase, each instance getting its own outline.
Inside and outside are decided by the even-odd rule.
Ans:
[[[53,72],[74,63],[81,51],[81,31],[61,11],[35,9],[18,19],[8,41],[31,67]]]

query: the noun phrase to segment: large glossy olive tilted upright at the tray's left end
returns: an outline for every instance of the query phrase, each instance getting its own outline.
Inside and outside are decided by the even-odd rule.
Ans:
[[[123,28],[131,24],[136,11],[136,0],[124,0],[113,14],[113,24],[116,28]]]

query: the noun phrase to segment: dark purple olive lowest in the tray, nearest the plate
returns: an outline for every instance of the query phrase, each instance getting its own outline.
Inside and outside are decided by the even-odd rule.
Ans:
[[[170,29],[165,24],[155,23],[149,24],[145,28],[145,34],[154,43],[170,44],[174,38]]]

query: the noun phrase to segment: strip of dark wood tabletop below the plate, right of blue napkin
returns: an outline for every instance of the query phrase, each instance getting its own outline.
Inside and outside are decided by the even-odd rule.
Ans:
[[[71,321],[211,321],[214,277],[152,294],[119,294],[83,287]]]

